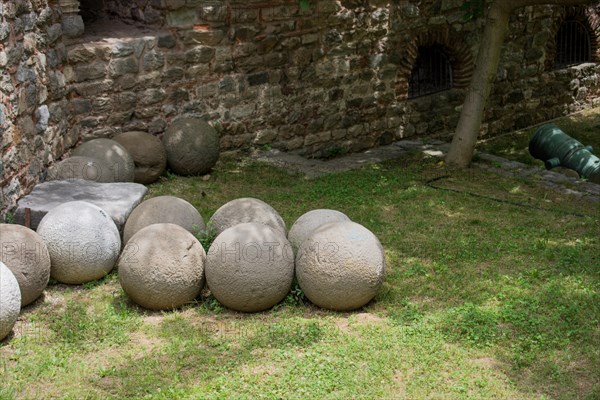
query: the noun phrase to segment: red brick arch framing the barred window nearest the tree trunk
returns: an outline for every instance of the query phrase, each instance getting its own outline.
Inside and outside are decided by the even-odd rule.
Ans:
[[[408,82],[412,69],[419,57],[419,47],[439,45],[442,47],[452,66],[452,87],[466,88],[469,86],[475,64],[471,48],[466,45],[459,35],[450,29],[422,32],[414,37],[404,48],[403,57],[399,62],[396,95],[399,99],[408,98]]]

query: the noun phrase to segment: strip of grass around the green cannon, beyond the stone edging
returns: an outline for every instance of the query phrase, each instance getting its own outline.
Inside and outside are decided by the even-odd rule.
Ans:
[[[580,141],[584,146],[592,146],[594,154],[600,157],[600,107],[592,108],[559,118],[553,121],[563,132]],[[529,140],[538,128],[524,129],[491,138],[480,143],[477,148],[486,153],[496,154],[525,164],[544,164],[529,155]]]

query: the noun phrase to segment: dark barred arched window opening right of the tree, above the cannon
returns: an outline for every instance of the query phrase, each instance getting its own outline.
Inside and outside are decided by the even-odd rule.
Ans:
[[[587,27],[575,20],[563,22],[556,34],[554,68],[561,69],[591,61],[592,43]]]

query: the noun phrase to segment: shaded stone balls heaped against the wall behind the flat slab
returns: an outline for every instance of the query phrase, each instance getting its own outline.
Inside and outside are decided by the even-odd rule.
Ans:
[[[182,117],[167,127],[162,140],[132,131],[85,142],[48,171],[48,180],[146,185],[156,182],[167,165],[178,175],[204,175],[218,158],[217,131],[200,118]]]

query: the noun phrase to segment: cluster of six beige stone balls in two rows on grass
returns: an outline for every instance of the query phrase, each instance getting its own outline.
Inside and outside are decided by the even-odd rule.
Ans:
[[[191,204],[162,196],[136,207],[118,261],[127,295],[171,309],[193,301],[206,282],[224,306],[258,312],[283,300],[296,276],[314,304],[343,311],[367,304],[383,282],[379,240],[339,211],[310,211],[288,235],[275,209],[241,198],[219,208],[208,227],[216,238],[205,253],[193,233],[207,228]]]

